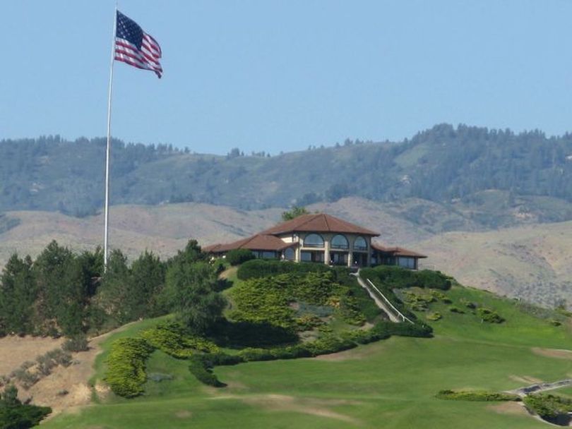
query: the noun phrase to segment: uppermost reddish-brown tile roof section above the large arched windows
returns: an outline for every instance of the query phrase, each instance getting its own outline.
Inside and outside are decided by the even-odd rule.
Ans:
[[[362,228],[333,217],[330,214],[302,214],[292,220],[282,222],[272,228],[262,231],[261,234],[280,235],[292,232],[340,232],[343,234],[361,234],[364,236],[379,236],[378,232]]]

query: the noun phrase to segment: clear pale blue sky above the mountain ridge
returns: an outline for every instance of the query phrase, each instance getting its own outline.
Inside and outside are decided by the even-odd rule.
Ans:
[[[572,131],[572,1],[119,1],[165,75],[114,66],[112,133],[225,154],[435,123]],[[0,138],[106,132],[114,1],[3,1]]]

